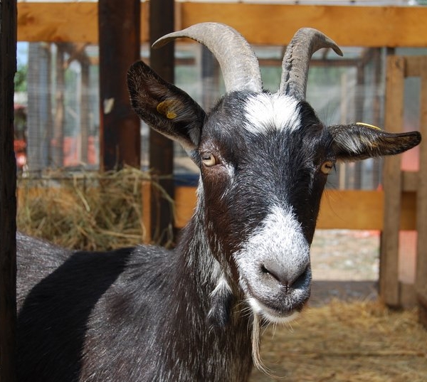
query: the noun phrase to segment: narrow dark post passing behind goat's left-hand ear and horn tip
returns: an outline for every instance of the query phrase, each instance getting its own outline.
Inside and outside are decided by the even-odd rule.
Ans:
[[[174,0],[156,0],[149,4],[150,43],[174,31]],[[151,49],[150,65],[169,83],[174,82],[174,43],[161,49]],[[162,134],[150,130],[149,167],[154,179],[174,198],[174,144]],[[152,192],[152,240],[167,244],[172,238],[173,209],[167,199]]]

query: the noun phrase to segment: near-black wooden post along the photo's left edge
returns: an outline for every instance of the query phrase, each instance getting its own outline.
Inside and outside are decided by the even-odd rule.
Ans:
[[[16,333],[16,0],[0,1],[0,381],[14,382]]]

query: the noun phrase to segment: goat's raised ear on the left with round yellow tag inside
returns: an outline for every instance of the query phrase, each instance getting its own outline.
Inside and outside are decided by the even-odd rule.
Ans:
[[[183,90],[168,83],[142,61],[127,72],[127,87],[137,115],[187,152],[199,145],[204,110]]]

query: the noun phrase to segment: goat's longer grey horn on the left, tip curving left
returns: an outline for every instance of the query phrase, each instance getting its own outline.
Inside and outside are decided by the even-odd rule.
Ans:
[[[249,43],[235,29],[221,23],[198,23],[159,38],[153,48],[160,48],[179,37],[192,38],[214,53],[221,66],[227,92],[263,91],[258,59]]]

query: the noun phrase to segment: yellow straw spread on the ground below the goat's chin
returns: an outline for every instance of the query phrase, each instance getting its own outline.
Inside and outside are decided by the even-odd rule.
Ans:
[[[414,311],[331,302],[288,327],[267,329],[261,356],[286,382],[427,381],[427,331]],[[254,371],[251,382],[275,381]]]

